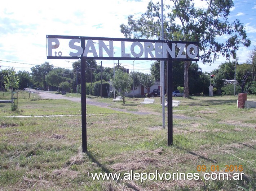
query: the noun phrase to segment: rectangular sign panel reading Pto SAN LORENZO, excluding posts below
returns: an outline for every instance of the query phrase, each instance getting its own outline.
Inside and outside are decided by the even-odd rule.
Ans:
[[[198,42],[57,35],[46,38],[47,59],[199,60]]]

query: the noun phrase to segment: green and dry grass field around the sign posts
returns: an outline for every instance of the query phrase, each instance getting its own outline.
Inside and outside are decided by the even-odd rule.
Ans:
[[[94,98],[123,111],[87,105],[93,115],[82,153],[80,103],[30,96],[19,92],[14,112],[0,103],[0,190],[256,190],[256,108],[238,109],[237,97],[174,98],[181,104],[173,108],[173,146],[167,146],[159,98],[148,105],[140,104],[144,98],[126,98],[125,105]],[[155,180],[156,171],[200,178]],[[120,173],[123,180],[93,180],[100,172]],[[131,172],[151,173],[154,180],[124,180]],[[227,172],[232,180],[205,180],[206,172]],[[244,173],[242,180],[233,173]]]

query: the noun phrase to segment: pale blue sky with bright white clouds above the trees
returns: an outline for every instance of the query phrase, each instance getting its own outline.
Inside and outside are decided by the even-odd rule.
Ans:
[[[54,67],[72,69],[72,63],[65,60],[47,60],[47,34],[124,38],[119,25],[127,23],[127,17],[130,14],[133,14],[135,19],[139,18],[145,13],[149,0],[64,2],[58,0],[3,1],[0,6],[0,69],[11,66],[16,72],[30,71],[32,66],[40,65],[45,61]],[[163,2],[169,1],[163,0]],[[234,1],[229,20],[231,22],[234,19],[239,19],[244,24],[247,36],[251,40],[249,48],[240,47],[238,51],[238,63],[242,64],[246,62],[249,52],[256,46],[256,2],[254,0]],[[96,61],[100,63],[100,60]],[[202,65],[200,62],[199,66],[203,71],[210,72],[225,61],[225,58],[220,56],[220,59],[211,66]],[[132,61],[119,62],[130,71],[132,70]],[[134,61],[134,70],[149,73],[153,62]],[[102,65],[112,67],[113,60],[103,60]]]

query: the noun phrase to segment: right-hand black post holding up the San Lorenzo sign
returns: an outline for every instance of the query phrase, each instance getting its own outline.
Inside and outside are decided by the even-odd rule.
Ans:
[[[169,48],[172,48],[170,45],[168,45]],[[168,54],[169,57],[169,54]],[[168,146],[173,145],[173,120],[172,120],[172,60],[167,61],[167,101],[168,101],[168,107],[167,107],[167,134],[168,134]],[[164,103],[163,103],[164,104]]]

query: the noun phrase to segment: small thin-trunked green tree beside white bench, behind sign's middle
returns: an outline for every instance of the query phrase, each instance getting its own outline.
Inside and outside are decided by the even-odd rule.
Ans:
[[[120,90],[119,94],[123,97],[123,103],[125,104],[125,93],[131,92],[132,78],[129,74],[117,70],[115,71],[115,78],[112,78],[111,81],[115,89]]]

